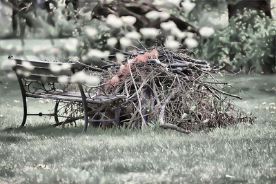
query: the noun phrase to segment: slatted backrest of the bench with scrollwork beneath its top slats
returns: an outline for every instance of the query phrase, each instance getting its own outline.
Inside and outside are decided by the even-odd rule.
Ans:
[[[78,63],[52,62],[52,61],[29,61],[8,57],[14,63],[13,70],[17,74],[21,92],[48,93],[60,88],[59,76],[70,77],[84,67]]]

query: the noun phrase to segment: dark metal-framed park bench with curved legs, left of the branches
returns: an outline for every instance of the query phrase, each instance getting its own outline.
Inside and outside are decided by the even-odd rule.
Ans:
[[[79,65],[78,63],[70,62],[71,68],[70,70],[64,70],[59,72],[58,74],[52,72],[49,68],[51,63],[55,65],[62,65],[63,63],[58,62],[50,62],[50,61],[28,61],[24,59],[15,59],[12,56],[9,56],[8,59],[12,59],[15,61],[15,65],[13,66],[12,70],[17,74],[17,80],[19,82],[19,86],[21,89],[21,95],[23,100],[23,119],[20,127],[24,127],[26,124],[27,116],[54,116],[55,117],[55,125],[60,125],[65,122],[59,122],[59,116],[57,114],[59,101],[68,101],[68,102],[79,102],[82,103],[83,106],[83,116],[74,117],[71,119],[66,119],[66,123],[70,123],[72,121],[76,121],[79,119],[84,120],[83,124],[83,132],[86,132],[88,129],[89,122],[99,122],[102,120],[98,119],[89,119],[89,115],[92,114],[92,111],[88,110],[88,103],[97,103],[100,105],[113,105],[115,106],[115,119],[104,119],[104,121],[115,121],[116,125],[119,125],[119,116],[121,110],[121,102],[124,101],[125,96],[117,95],[117,94],[110,94],[110,96],[106,96],[103,98],[103,95],[95,95],[93,98],[90,96],[90,92],[85,92],[83,90],[83,84],[77,83],[80,95],[78,96],[74,92],[60,92],[58,93],[59,89],[56,88],[56,83],[59,83],[57,78],[61,75],[67,75],[68,77],[75,74],[77,71],[81,71],[86,67],[83,65]],[[24,67],[22,65],[23,61],[30,62],[34,68],[32,70]],[[92,68],[95,69],[95,68]],[[24,70],[22,72],[22,70]],[[19,72],[20,71],[20,72]],[[24,72],[28,72],[24,74]],[[40,85],[40,88],[31,88],[32,85]],[[93,87],[90,88],[90,90]],[[39,92],[42,91],[42,92]],[[56,93],[57,92],[57,93]],[[101,98],[100,98],[101,96]],[[28,113],[27,108],[27,97],[30,98],[44,98],[44,99],[54,99],[56,100],[55,110],[54,113],[43,114],[42,112],[39,113]]]

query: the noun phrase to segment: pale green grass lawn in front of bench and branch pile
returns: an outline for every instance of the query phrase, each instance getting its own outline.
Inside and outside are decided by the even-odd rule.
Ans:
[[[81,127],[50,127],[53,120],[43,118],[15,128],[22,114],[17,83],[0,89],[0,183],[276,183],[273,107],[260,105],[253,125],[188,136],[115,129],[81,134]],[[29,103],[34,112],[53,105]]]

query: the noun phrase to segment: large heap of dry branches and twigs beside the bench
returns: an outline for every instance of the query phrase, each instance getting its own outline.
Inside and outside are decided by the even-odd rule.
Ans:
[[[121,124],[163,127],[183,133],[226,127],[251,121],[234,103],[207,61],[190,57],[190,50],[172,52],[164,47],[122,52],[125,61],[105,65],[101,72],[106,93],[124,94]]]

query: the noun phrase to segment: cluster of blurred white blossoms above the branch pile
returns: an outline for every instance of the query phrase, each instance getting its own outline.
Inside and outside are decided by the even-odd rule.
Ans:
[[[116,56],[118,49],[131,50],[134,47],[141,47],[141,43],[145,46],[152,46],[156,39],[161,39],[166,48],[170,50],[177,50],[181,47],[181,43],[189,49],[198,45],[193,32],[177,27],[179,22],[175,23],[174,19],[170,19],[171,16],[174,16],[171,9],[177,8],[179,12],[183,13],[193,10],[195,3],[191,3],[189,0],[183,3],[180,1],[155,1],[155,8],[145,10],[145,14],[139,14],[141,19],[144,19],[142,21],[135,15],[119,16],[120,10],[114,14],[110,12],[110,14],[101,14],[106,10],[105,7],[117,6],[116,2],[113,2],[112,5],[109,3],[104,1],[103,10],[93,13],[93,16],[98,19],[92,19],[90,23],[80,28],[77,55],[82,62],[101,65],[103,61],[99,62],[98,60],[107,59],[108,53]],[[185,8],[181,8],[181,4],[185,5]],[[158,8],[162,8],[160,12],[157,11]],[[101,18],[99,19],[99,17]],[[141,27],[139,23],[144,23],[144,26]],[[116,60],[120,59],[118,60],[116,57]]]

